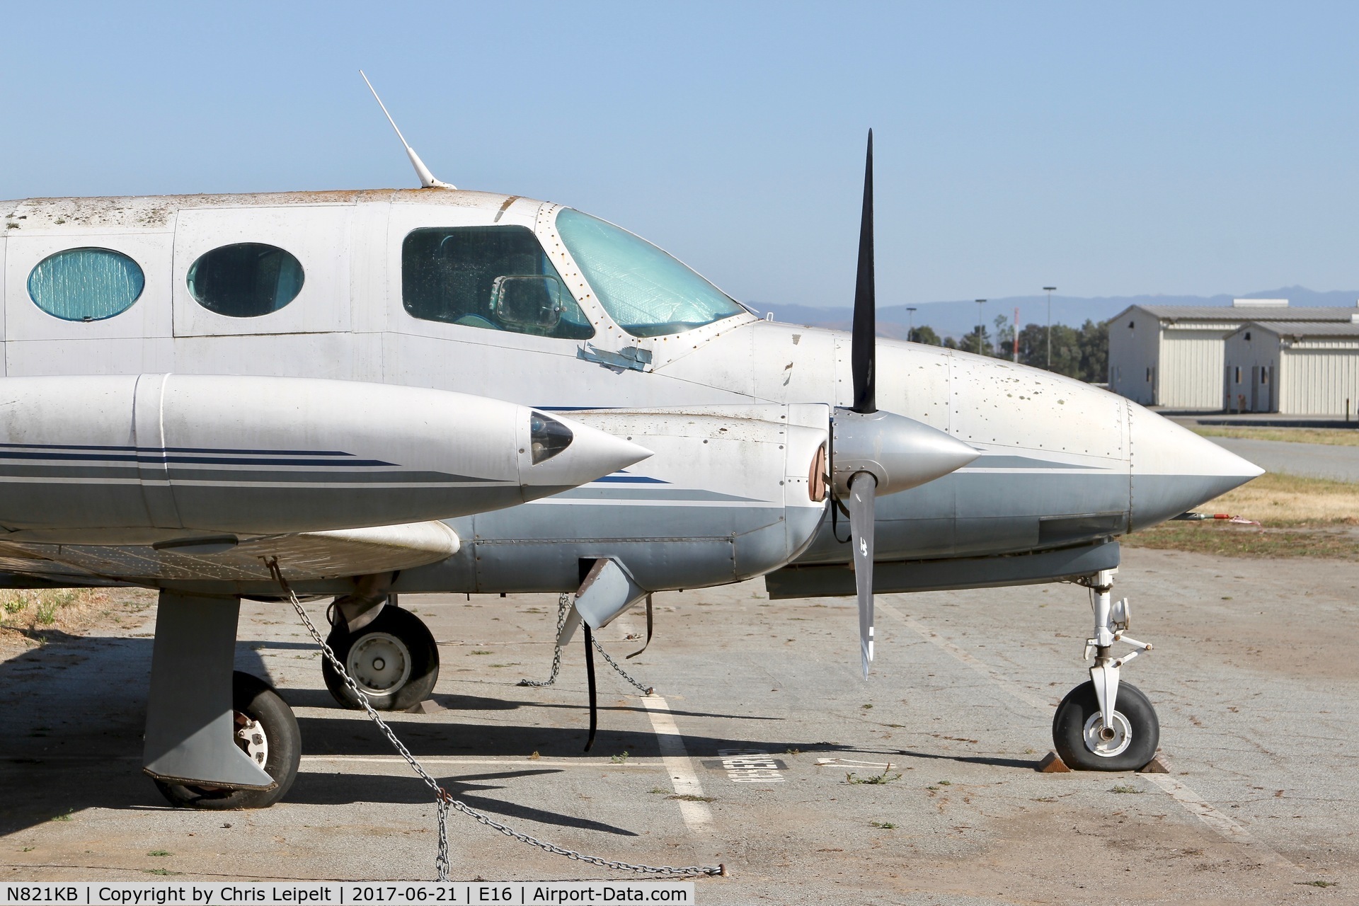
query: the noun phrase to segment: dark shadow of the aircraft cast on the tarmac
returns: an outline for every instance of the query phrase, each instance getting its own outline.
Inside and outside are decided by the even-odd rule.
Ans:
[[[0,719],[19,725],[52,723],[50,717],[29,716],[22,710],[22,687],[29,682],[50,682],[58,674],[52,670],[52,655],[61,656],[64,648],[84,648],[116,644],[121,667],[148,675],[151,667],[151,638],[96,638],[75,637],[65,633],[49,633],[46,645],[26,655],[0,663],[0,681],[7,683],[16,695]],[[260,642],[255,642],[260,644]],[[266,645],[269,647],[269,645]],[[277,647],[277,645],[272,645]],[[294,647],[288,642],[288,647]],[[307,645],[299,645],[306,648]],[[42,668],[43,662],[49,667]],[[96,664],[98,659],[86,663]],[[236,668],[269,676],[266,662],[251,642],[236,647]],[[15,743],[5,747],[5,758],[0,759],[0,834],[15,834],[50,820],[80,820],[80,812],[87,808],[162,808],[164,800],[140,770],[141,727],[144,723],[145,685],[132,687],[126,682],[90,683],[82,678],[82,667],[71,667],[67,674],[63,667],[60,682],[71,682],[71,706],[63,714],[61,727],[11,738]],[[145,671],[141,674],[140,671]],[[308,757],[325,755],[382,755],[393,757],[387,740],[359,712],[338,709],[323,690],[281,690],[284,697],[299,706],[323,706],[323,717],[303,716],[299,719],[303,753]],[[499,697],[440,694],[436,701],[450,709],[434,719],[404,719],[395,724],[395,732],[417,757],[482,757],[482,758],[525,758],[538,753],[545,758],[569,759],[583,755],[588,732],[584,701],[580,704],[538,702],[534,690],[525,689],[523,700],[515,701]],[[550,708],[554,713],[571,712],[578,716],[569,727],[533,725],[529,723],[474,723],[476,714],[511,712],[520,708]],[[599,713],[599,732],[590,757],[620,755],[628,753],[635,758],[659,757],[656,736],[650,729],[650,721],[640,721],[628,712],[644,712],[641,706],[606,706]],[[469,720],[459,720],[462,712]],[[527,717],[526,712],[525,716]],[[722,750],[758,750],[783,753],[800,750],[803,753],[864,753],[863,748],[806,739],[771,739],[764,733],[742,733],[742,728],[769,724],[780,720],[750,714],[716,714],[697,710],[673,710],[681,717],[718,717],[739,721],[731,724],[737,732],[722,735],[686,735],[685,746],[694,758],[712,758]],[[450,720],[451,719],[451,720]],[[754,721],[761,721],[756,724]],[[629,724],[631,728],[614,724]],[[890,753],[883,753],[889,754]],[[1000,767],[1033,767],[1031,762],[1004,758],[958,757],[942,754],[898,751],[897,757],[969,761]],[[322,762],[323,765],[323,762]],[[361,765],[344,765],[344,773],[315,770],[317,762],[303,765],[296,784],[289,791],[287,803],[303,804],[344,804],[368,803],[423,803],[428,801],[429,791],[416,778],[401,774],[368,774]],[[386,767],[386,766],[385,766]],[[531,820],[561,827],[579,827],[599,833],[631,835],[635,831],[605,822],[582,819],[553,811],[522,805],[487,796],[496,789],[510,791],[515,797],[515,781],[546,776],[553,769],[512,767],[499,773],[455,774],[457,765],[434,765],[432,773],[442,777],[440,782],[453,795],[469,805],[489,815],[507,820]],[[506,781],[492,784],[489,781]]]

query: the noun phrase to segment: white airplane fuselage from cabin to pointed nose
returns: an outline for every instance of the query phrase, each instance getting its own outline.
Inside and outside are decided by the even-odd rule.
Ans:
[[[766,322],[745,310],[692,329],[655,329],[658,336],[621,326],[587,278],[598,269],[563,240],[561,211],[446,189],[0,202],[8,227],[0,236],[4,375],[332,378],[569,410],[849,403],[848,334]],[[569,296],[564,304],[578,310],[576,334],[516,329],[493,312],[459,322],[414,316],[410,288],[404,289],[405,243],[421,230],[463,227],[531,232]],[[201,304],[192,269],[235,243],[291,253],[304,272],[295,297],[253,316]],[[34,269],[79,247],[132,258],[144,274],[136,302],[91,321],[42,310]],[[1006,554],[1116,537],[1258,474],[1140,406],[1059,375],[882,340],[877,368],[879,409],[983,454],[951,475],[879,501],[879,560]],[[688,481],[701,486],[704,475]],[[463,550],[476,558],[480,541],[531,537],[542,522],[531,513],[544,508],[564,515],[559,503],[469,518],[458,528],[473,541]],[[520,519],[520,511],[530,515]],[[598,507],[582,515],[582,534],[618,535],[598,520]],[[847,557],[829,527],[803,554],[810,562]]]

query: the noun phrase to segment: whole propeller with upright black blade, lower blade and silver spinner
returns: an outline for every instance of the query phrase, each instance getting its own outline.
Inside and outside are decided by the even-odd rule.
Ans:
[[[878,412],[877,291],[872,261],[872,130],[863,175],[859,272],[853,293],[849,361],[853,406],[836,410],[832,446],[833,489],[849,515],[855,587],[859,594],[859,649],[863,678],[872,662],[874,503],[879,494],[906,490],[966,466],[980,454],[923,422]],[[837,504],[832,504],[837,505]]]

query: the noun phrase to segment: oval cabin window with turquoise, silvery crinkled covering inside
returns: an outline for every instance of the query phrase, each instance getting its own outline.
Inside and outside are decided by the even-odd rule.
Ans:
[[[103,321],[132,307],[147,280],[136,261],[111,249],[67,249],[29,272],[29,297],[63,321]]]

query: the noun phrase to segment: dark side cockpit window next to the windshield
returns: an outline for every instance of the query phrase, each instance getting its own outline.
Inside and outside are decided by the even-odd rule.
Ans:
[[[527,227],[412,231],[401,244],[401,302],[421,321],[567,340],[594,336]]]

